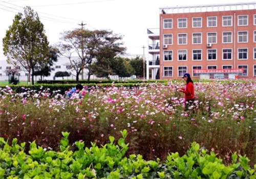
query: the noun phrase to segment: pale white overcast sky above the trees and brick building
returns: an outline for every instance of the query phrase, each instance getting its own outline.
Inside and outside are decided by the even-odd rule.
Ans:
[[[107,29],[123,35],[126,53],[142,55],[147,45],[147,28],[159,28],[159,7],[239,3],[246,0],[0,0],[0,60],[3,38],[15,14],[30,6],[44,24],[50,44],[59,42],[63,31],[80,28]],[[248,0],[246,2],[255,2]],[[146,53],[145,49],[145,53]]]

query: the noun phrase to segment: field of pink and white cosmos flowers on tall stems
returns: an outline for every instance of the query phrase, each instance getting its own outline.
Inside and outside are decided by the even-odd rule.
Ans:
[[[189,111],[184,111],[184,98],[176,91],[183,85],[169,81],[131,89],[113,84],[70,100],[58,91],[50,95],[49,89],[24,88],[16,94],[10,86],[2,87],[0,137],[58,150],[62,131],[70,132],[75,147],[76,141],[106,144],[109,136],[120,138],[126,129],[127,153],[146,160],[184,154],[195,141],[225,163],[237,152],[256,164],[256,82],[195,82],[195,107]]]

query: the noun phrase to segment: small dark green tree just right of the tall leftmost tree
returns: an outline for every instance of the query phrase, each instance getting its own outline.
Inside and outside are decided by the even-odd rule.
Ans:
[[[59,57],[58,49],[54,47],[50,47],[49,56],[47,57],[47,62],[39,63],[40,69],[34,72],[34,76],[41,76],[41,80],[42,80],[42,76],[46,76],[46,77],[50,76],[51,71],[54,70],[52,66],[54,62],[58,61],[58,57]]]

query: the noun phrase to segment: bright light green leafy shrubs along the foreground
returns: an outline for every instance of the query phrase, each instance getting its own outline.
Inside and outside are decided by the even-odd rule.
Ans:
[[[198,143],[191,144],[187,154],[170,153],[166,162],[144,161],[142,155],[125,157],[128,144],[124,140],[127,131],[115,144],[98,147],[91,143],[75,142],[77,150],[69,150],[69,132],[62,132],[60,152],[45,151],[35,141],[30,143],[29,154],[24,152],[25,143],[17,144],[13,139],[8,145],[0,138],[0,178],[255,178],[255,168],[248,165],[246,155],[233,153],[232,164],[225,166],[217,154],[200,149]],[[237,162],[239,160],[239,162]]]

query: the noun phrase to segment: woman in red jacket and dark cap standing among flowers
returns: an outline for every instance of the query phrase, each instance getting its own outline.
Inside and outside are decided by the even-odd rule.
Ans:
[[[185,110],[188,110],[189,106],[194,104],[194,84],[189,73],[185,73],[182,78],[186,81],[186,85],[185,88],[179,88],[178,92],[185,94]]]

